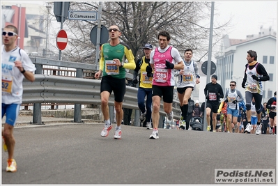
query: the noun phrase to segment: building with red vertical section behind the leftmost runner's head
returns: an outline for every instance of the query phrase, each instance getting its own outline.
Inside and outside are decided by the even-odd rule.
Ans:
[[[47,6],[31,3],[1,3],[1,29],[13,24],[19,31],[19,47],[29,54],[43,54],[47,39]]]

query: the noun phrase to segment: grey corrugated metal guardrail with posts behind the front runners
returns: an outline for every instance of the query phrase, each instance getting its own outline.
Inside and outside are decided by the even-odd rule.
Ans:
[[[96,70],[97,65],[75,63],[68,61],[55,61],[49,59],[31,58],[36,65],[35,81],[29,82],[24,79],[22,103],[33,103],[33,123],[41,123],[42,103],[72,103],[75,104],[74,121],[82,123],[81,104],[101,104],[100,100],[100,80],[84,79],[82,72],[86,70]],[[56,75],[42,75],[43,65],[59,65],[60,67],[77,68],[77,77],[63,77]],[[132,75],[130,75],[132,77]],[[138,88],[126,86],[126,93],[123,100],[123,108],[134,109],[135,125],[139,126],[139,108],[137,103]],[[109,98],[109,113],[111,119],[114,115],[114,93]],[[180,117],[180,107],[177,100],[173,100],[173,118]],[[160,104],[160,117],[166,116],[163,104]]]

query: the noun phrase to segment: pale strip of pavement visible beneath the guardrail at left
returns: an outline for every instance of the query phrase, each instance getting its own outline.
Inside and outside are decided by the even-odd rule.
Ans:
[[[6,116],[3,116],[1,124],[6,122]],[[38,125],[61,125],[61,124],[78,124],[74,122],[73,118],[56,118],[56,117],[42,117],[41,124],[33,124],[33,116],[19,115],[17,118],[17,123],[15,127],[23,127],[23,126],[38,126]],[[90,119],[82,119],[82,123],[86,124],[103,124],[101,121],[95,121]]]

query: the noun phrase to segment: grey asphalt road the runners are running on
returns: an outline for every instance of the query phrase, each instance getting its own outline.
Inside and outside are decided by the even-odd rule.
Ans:
[[[275,135],[233,134],[122,125],[122,139],[100,137],[103,125],[16,127],[17,172],[2,184],[215,184],[215,169],[276,169]]]

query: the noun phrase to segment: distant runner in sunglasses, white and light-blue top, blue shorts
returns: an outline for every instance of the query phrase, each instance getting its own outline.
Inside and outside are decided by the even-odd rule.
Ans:
[[[236,82],[230,82],[230,88],[226,91],[226,95],[224,96],[225,102],[228,104],[227,107],[227,125],[229,132],[233,131],[233,128],[238,123],[238,112],[239,112],[239,105],[238,103],[243,101],[242,94],[236,88]],[[237,129],[239,126],[235,127]]]

